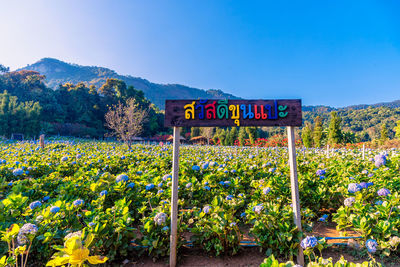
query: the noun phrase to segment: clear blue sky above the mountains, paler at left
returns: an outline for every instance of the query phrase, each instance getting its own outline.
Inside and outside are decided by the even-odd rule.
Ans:
[[[3,1],[0,63],[43,57],[244,98],[400,99],[398,1]]]

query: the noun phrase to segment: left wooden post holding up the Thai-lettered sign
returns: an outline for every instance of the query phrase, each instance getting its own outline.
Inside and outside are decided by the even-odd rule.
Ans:
[[[178,241],[178,175],[179,175],[179,143],[180,129],[174,127],[174,143],[172,157],[172,192],[171,192],[171,236],[169,266],[176,266],[176,245]]]

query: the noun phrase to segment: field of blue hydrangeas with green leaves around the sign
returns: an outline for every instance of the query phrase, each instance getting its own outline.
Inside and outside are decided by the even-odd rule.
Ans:
[[[313,259],[325,246],[311,237],[313,224],[330,221],[362,236],[360,255],[399,254],[397,150],[369,150],[363,160],[359,150],[299,149],[297,161],[303,232],[285,148],[182,146],[178,248],[190,241],[231,255],[248,235],[267,255],[290,259],[301,245]],[[1,143],[0,266],[168,255],[171,169],[168,145]]]

